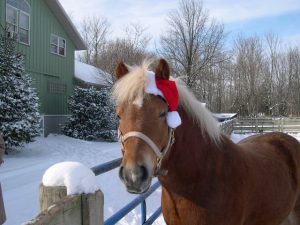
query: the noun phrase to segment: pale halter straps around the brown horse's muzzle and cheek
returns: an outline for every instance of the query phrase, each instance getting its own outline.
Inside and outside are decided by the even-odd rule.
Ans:
[[[131,138],[131,137],[137,137],[142,139],[144,142],[146,142],[151,149],[154,151],[154,153],[156,154],[156,171],[155,171],[155,175],[159,174],[160,171],[160,167],[161,167],[161,162],[164,158],[164,156],[167,154],[167,152],[169,151],[169,149],[172,147],[172,145],[175,142],[175,136],[174,136],[174,129],[169,128],[169,138],[168,138],[168,144],[166,145],[166,147],[160,151],[160,149],[157,147],[157,145],[145,134],[143,134],[142,132],[139,131],[130,131],[126,134],[122,134],[120,128],[118,129],[118,136],[119,139],[121,141],[122,144],[122,149],[124,150],[124,143],[127,139]],[[161,175],[166,175],[167,171],[163,171],[163,173],[161,173]]]

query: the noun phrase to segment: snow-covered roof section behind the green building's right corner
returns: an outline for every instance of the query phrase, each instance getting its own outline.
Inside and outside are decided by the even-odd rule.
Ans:
[[[75,60],[75,77],[91,85],[110,86],[111,75],[101,69]]]

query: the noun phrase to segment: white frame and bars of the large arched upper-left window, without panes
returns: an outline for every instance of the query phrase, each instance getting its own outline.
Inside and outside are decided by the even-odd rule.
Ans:
[[[24,1],[25,1],[25,0],[24,0]],[[27,13],[27,12],[21,10],[21,9],[18,9],[18,8],[16,8],[16,7],[10,5],[8,2],[5,2],[5,3],[6,3],[6,6],[5,6],[5,14],[6,14],[5,20],[6,20],[6,23],[9,24],[9,25],[12,25],[12,26],[15,26],[15,27],[16,27],[17,30],[16,30],[16,31],[14,30],[13,33],[17,35],[17,40],[18,40],[19,43],[24,44],[24,45],[29,45],[29,46],[30,46],[30,19],[31,19],[31,18],[30,18],[30,14],[31,14],[31,13]],[[25,1],[25,3],[28,4],[29,9],[31,9],[29,3],[28,3],[27,1]],[[15,10],[15,11],[17,12],[17,19],[16,19],[16,22],[17,22],[17,23],[16,23],[16,24],[12,24],[12,23],[8,22],[7,7],[10,7],[11,9],[13,9],[13,10]],[[23,14],[25,14],[26,16],[28,16],[28,23],[29,23],[29,24],[28,24],[28,29],[27,29],[27,28],[20,27],[20,13],[23,13]],[[23,41],[20,41],[20,37],[19,37],[19,30],[20,30],[20,29],[28,31],[28,43],[23,42]],[[12,34],[10,34],[10,36],[12,36]]]

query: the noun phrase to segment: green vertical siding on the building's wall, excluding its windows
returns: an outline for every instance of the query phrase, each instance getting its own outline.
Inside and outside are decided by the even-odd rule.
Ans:
[[[75,46],[43,0],[30,0],[30,45],[18,44],[25,55],[26,70],[34,80],[41,100],[41,112],[47,115],[68,114],[67,98],[73,92]],[[5,0],[1,0],[1,23],[5,23]],[[50,35],[66,40],[66,56],[50,52]],[[65,93],[51,93],[48,83],[66,85]]]

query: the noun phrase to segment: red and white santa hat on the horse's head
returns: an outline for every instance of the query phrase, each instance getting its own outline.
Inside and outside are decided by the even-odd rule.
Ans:
[[[181,124],[181,118],[177,112],[179,105],[179,94],[175,81],[157,79],[152,71],[148,71],[149,83],[146,93],[163,97],[169,106],[167,124],[171,128],[176,128]]]

